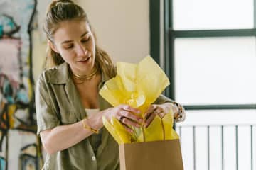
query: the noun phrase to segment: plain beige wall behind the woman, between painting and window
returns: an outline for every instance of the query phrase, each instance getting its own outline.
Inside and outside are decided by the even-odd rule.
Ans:
[[[78,4],[85,8],[100,47],[114,62],[139,62],[149,55],[149,0],[80,0]],[[46,44],[38,32],[33,36],[33,74],[37,79]]]

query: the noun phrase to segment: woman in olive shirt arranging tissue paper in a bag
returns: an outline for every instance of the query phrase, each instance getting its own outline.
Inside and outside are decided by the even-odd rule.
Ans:
[[[160,96],[147,111],[127,105],[110,106],[99,90],[116,75],[112,60],[101,50],[85,11],[73,1],[53,1],[43,26],[48,38],[46,69],[36,84],[38,134],[48,153],[43,169],[119,169],[117,142],[102,124],[117,118],[131,126],[148,126],[155,114],[174,110],[182,120],[182,107]],[[54,66],[54,67],[53,67]]]

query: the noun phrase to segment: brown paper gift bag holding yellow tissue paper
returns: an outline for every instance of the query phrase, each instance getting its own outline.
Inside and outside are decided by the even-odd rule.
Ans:
[[[179,140],[119,145],[121,170],[183,170]]]

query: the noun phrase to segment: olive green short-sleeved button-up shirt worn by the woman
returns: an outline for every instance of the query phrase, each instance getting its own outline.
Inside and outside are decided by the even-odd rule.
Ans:
[[[98,89],[108,77],[102,76]],[[90,90],[90,89],[88,89]],[[98,96],[100,111],[110,108],[104,98]],[[169,98],[160,96],[155,103],[165,103]],[[36,84],[36,117],[39,134],[58,125],[76,123],[86,116],[80,96],[70,78],[68,64],[63,63],[44,71]],[[94,152],[90,137],[78,144],[47,154],[43,169],[50,170],[114,170],[119,169],[118,144],[105,128],[101,130],[101,142]],[[98,142],[98,141],[97,141]]]

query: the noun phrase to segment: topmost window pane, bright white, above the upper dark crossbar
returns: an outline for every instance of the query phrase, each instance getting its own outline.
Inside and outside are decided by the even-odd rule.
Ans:
[[[174,29],[253,28],[253,0],[174,0]]]

